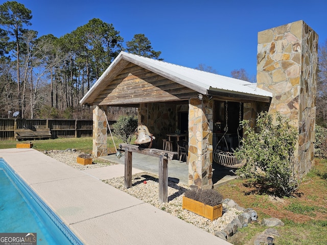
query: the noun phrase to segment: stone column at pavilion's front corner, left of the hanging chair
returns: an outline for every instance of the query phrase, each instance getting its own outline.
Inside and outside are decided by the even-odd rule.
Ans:
[[[211,188],[213,163],[213,101],[189,101],[189,185],[191,188]]]

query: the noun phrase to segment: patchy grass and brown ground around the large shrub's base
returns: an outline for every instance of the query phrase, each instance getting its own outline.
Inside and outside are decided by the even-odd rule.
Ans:
[[[250,180],[235,180],[218,187],[224,198],[230,198],[242,207],[258,212],[258,222],[242,228],[230,242],[235,245],[253,244],[256,234],[263,232],[263,218],[281,219],[284,227],[275,227],[280,237],[274,244],[327,244],[327,160],[315,159],[315,166],[303,179],[292,198],[271,200],[259,195]]]

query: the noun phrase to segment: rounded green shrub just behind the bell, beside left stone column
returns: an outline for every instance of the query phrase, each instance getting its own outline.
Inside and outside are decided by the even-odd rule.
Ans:
[[[116,137],[123,140],[124,143],[130,143],[137,128],[137,117],[120,116],[112,128]]]

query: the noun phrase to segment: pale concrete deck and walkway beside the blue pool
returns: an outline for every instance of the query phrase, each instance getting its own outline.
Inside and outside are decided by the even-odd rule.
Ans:
[[[33,149],[0,157],[84,244],[231,244],[100,180],[124,176],[122,165],[80,171]]]

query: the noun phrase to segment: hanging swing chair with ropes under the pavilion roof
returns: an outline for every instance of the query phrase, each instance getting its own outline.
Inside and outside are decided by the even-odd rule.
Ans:
[[[220,140],[217,142],[215,151],[214,151],[214,161],[217,162],[218,164],[225,166],[225,167],[230,167],[230,168],[240,168],[244,166],[245,161],[241,161],[237,159],[237,157],[232,153],[229,152],[229,147],[228,143],[226,140],[226,133],[228,132],[228,111],[227,111],[228,103],[226,101],[226,114],[225,114],[225,119],[226,119],[226,126],[224,128],[224,134],[220,138]],[[242,120],[242,103],[240,103],[240,111],[239,111],[239,122]],[[242,126],[240,125],[237,129],[237,135],[238,135],[238,141],[239,141],[239,146],[241,142],[241,136],[240,136],[240,131],[242,130]],[[222,151],[218,149],[218,145],[220,142],[224,142],[227,151]],[[224,149],[223,149],[224,150]]]

